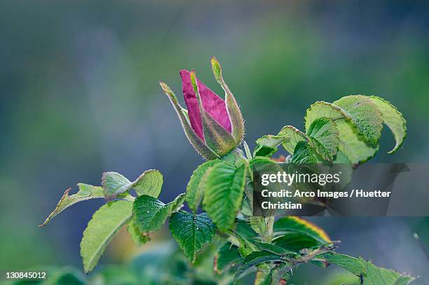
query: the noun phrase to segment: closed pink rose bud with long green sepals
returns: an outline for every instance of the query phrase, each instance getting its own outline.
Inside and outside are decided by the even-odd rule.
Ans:
[[[195,71],[180,71],[184,101],[188,110],[179,105],[168,85],[160,83],[175,107],[186,137],[206,160],[226,155],[241,143],[244,136],[244,122],[240,109],[224,83],[222,69],[214,57],[212,70],[225,91],[225,100],[201,83],[196,78]]]

